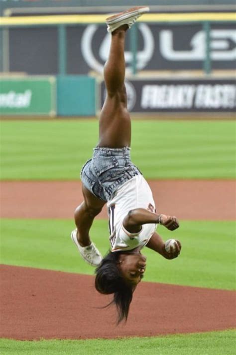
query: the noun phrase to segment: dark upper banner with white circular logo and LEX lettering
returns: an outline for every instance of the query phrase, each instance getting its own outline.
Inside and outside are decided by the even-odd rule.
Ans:
[[[133,55],[130,32],[125,43],[126,69]],[[201,70],[206,38],[202,23],[137,23],[137,70]],[[211,23],[212,69],[235,69],[236,25]],[[103,72],[111,35],[105,24],[71,25],[66,28],[66,73]],[[19,44],[20,43],[20,44]],[[9,29],[9,71],[28,74],[58,73],[58,30],[43,28]],[[20,45],[20,50],[19,50]],[[30,61],[27,58],[30,56]]]

